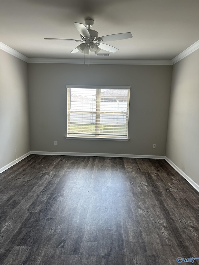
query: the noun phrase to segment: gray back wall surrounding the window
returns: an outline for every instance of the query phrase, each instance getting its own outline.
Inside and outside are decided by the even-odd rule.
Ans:
[[[29,63],[31,151],[165,155],[171,75],[172,66],[167,65]],[[65,139],[68,84],[130,85],[131,139]]]

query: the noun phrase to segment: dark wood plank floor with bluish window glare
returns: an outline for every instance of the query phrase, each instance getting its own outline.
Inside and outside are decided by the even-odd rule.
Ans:
[[[199,257],[198,221],[165,160],[30,155],[0,174],[1,265],[178,264]]]

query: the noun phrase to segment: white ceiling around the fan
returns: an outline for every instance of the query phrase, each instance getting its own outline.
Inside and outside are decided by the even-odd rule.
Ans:
[[[73,22],[87,17],[99,37],[132,33],[106,42],[119,49],[109,60],[171,60],[199,39],[199,0],[0,0],[0,41],[29,58],[83,59],[70,53],[79,43],[44,38],[80,39]]]

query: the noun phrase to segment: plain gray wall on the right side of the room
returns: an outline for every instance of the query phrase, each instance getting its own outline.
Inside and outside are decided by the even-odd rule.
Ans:
[[[199,50],[173,66],[166,156],[199,185]]]

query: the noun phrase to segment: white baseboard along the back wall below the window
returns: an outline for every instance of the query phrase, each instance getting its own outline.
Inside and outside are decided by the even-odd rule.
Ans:
[[[71,153],[71,152],[42,152],[31,151],[34,155],[61,155],[61,156],[99,156],[99,157],[125,157],[125,158],[157,158],[165,159],[165,156],[129,155],[129,154],[107,154],[107,153]]]

